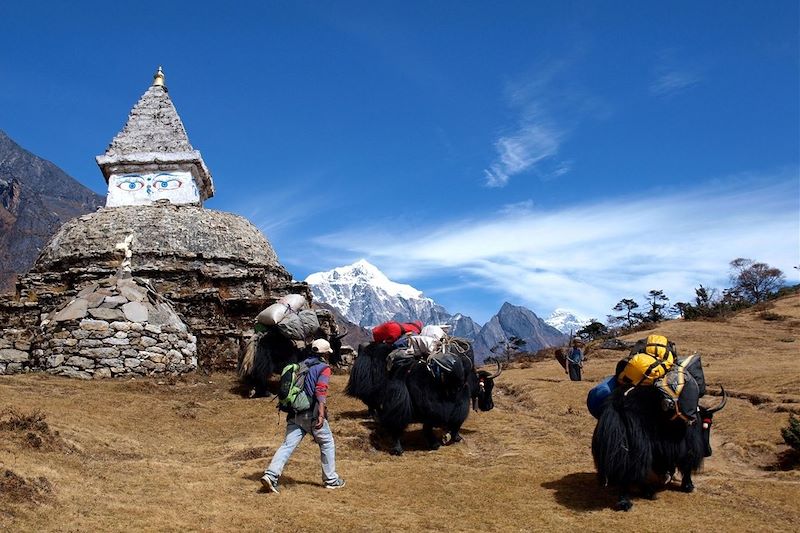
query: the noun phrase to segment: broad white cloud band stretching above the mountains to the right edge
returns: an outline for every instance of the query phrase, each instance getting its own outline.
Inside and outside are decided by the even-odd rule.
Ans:
[[[676,302],[689,300],[701,283],[720,286],[736,257],[796,273],[795,178],[771,184],[729,179],[658,197],[558,211],[504,209],[404,235],[402,242],[387,220],[383,227],[352,228],[314,242],[367,257],[405,283],[458,277],[540,313],[566,307],[600,319],[621,298],[642,301],[651,289]]]

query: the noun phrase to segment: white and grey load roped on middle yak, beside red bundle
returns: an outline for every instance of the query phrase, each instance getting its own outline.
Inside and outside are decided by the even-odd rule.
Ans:
[[[469,357],[471,364],[472,346],[466,339],[450,337],[447,334],[449,325],[428,325],[421,329],[422,323],[419,321],[402,325],[406,329],[406,345],[398,346],[386,357],[388,372],[407,368],[420,361],[428,366],[434,379],[441,381],[447,373],[453,372],[461,355]],[[394,342],[399,340],[395,339]]]

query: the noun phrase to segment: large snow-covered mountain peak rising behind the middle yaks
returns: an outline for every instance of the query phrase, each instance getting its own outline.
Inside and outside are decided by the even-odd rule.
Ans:
[[[314,299],[335,307],[364,327],[388,320],[444,324],[450,313],[411,285],[395,283],[368,261],[317,272],[306,278]]]

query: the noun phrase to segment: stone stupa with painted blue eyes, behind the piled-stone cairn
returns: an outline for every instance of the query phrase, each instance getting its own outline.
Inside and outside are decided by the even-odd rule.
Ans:
[[[311,300],[258,228],[203,207],[214,195],[211,173],[189,143],[160,67],[97,163],[108,184],[106,206],[64,224],[20,277],[16,295],[0,301],[0,373],[47,366],[47,328],[31,324],[52,320],[80,291],[113,278],[122,242],[131,277],[182,317],[203,368],[235,366],[254,317],[281,296]]]

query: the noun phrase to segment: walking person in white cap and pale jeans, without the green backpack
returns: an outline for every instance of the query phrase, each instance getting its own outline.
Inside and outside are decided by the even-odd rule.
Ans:
[[[328,341],[317,339],[311,343],[311,352],[311,357],[303,363],[309,369],[304,389],[306,395],[313,398],[312,405],[305,411],[289,412],[286,415],[286,437],[261,478],[261,484],[275,493],[279,492],[278,479],[281,477],[283,467],[286,466],[292,452],[306,436],[306,433],[311,433],[314,441],[319,445],[322,482],[325,484],[325,488],[344,487],[344,479],[336,473],[336,448],[327,420],[328,382],[331,377],[331,367],[328,366],[327,359],[333,350]]]

